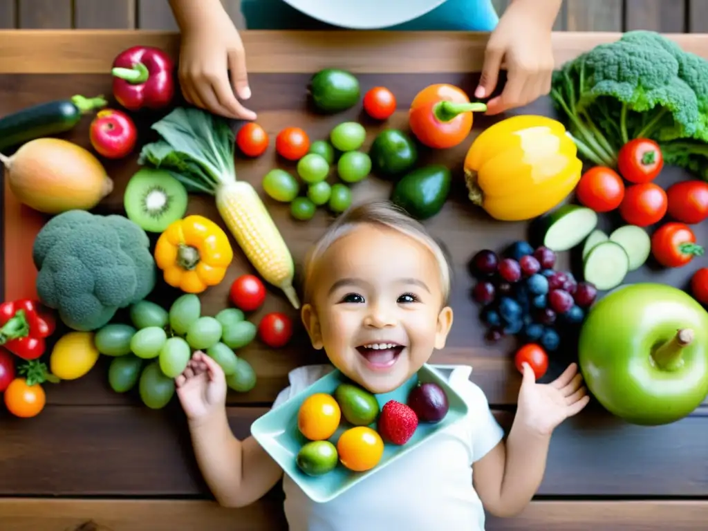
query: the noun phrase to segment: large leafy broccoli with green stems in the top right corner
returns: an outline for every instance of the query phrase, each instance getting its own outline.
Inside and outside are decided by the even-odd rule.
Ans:
[[[554,72],[551,98],[593,164],[617,166],[629,139],[651,138],[668,164],[708,169],[708,61],[651,31],[624,33]]]

